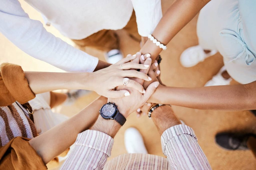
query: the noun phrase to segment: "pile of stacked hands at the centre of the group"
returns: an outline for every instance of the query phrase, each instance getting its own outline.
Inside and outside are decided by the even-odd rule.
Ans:
[[[108,102],[119,106],[120,113],[127,117],[136,110],[140,116],[141,109],[138,108],[147,102],[159,85],[160,70],[156,60],[152,63],[150,54],[137,52],[93,74],[94,77],[102,77],[100,81],[105,82],[102,88],[93,90],[108,97]]]

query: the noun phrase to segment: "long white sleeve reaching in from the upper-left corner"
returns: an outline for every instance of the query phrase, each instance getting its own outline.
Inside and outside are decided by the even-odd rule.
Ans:
[[[1,0],[0,31],[28,55],[66,71],[93,72],[98,58],[72,47],[29,18],[18,0]]]

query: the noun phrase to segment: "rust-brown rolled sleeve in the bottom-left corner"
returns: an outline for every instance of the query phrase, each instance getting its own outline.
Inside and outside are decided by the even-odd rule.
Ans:
[[[30,139],[16,137],[0,148],[0,169],[47,169],[42,158],[29,144]]]

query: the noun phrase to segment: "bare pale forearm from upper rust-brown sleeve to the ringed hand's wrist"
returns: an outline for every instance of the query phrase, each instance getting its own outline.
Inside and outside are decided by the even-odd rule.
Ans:
[[[35,94],[58,89],[91,89],[91,73],[25,72]]]

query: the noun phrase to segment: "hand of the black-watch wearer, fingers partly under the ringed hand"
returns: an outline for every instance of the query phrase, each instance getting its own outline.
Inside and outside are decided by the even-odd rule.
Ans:
[[[137,57],[132,62],[134,63],[141,62],[147,65],[151,64],[151,58],[142,60],[141,53],[137,53],[136,56]],[[140,70],[140,72],[147,74],[148,70],[149,68],[147,68],[146,70]],[[132,80],[137,81],[141,85],[143,84],[143,80],[141,79],[132,78]],[[122,113],[125,117],[127,117],[130,113],[134,112],[137,108],[140,108],[148,100],[148,98],[150,98],[150,96],[154,93],[158,85],[159,85],[159,82],[151,83],[146,89],[145,94],[138,92],[138,90],[135,90],[134,88],[129,88],[125,86],[118,87],[117,89],[119,90],[120,89],[128,90],[130,93],[130,96],[127,96],[121,99],[109,98],[108,102],[115,103],[118,106],[118,110],[120,111],[120,113]]]

